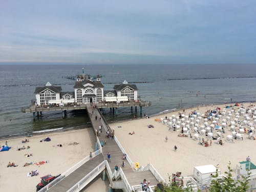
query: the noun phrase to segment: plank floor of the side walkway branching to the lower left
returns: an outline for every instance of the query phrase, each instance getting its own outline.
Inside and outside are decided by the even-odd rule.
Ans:
[[[73,187],[78,181],[89,174],[96,166],[104,160],[102,154],[97,155],[91,161],[87,161],[65,179],[58,182],[48,191],[50,192],[66,192]]]

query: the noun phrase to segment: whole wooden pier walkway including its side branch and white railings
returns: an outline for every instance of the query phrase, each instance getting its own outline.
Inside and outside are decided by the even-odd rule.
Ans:
[[[151,181],[152,188],[150,188],[150,191],[154,191],[154,186],[160,180],[164,181],[157,170],[151,164],[148,164],[145,168],[141,166],[136,169],[135,163],[132,162],[128,155],[126,156],[125,166],[122,167],[124,149],[116,137],[113,139],[106,138],[106,131],[114,133],[114,130],[106,123],[100,110],[93,109],[90,104],[86,106],[86,109],[95,133],[96,144],[93,159],[90,160],[89,156],[82,159],[38,192],[78,192],[100,173],[102,173],[103,180],[105,179],[105,174],[108,174],[112,188],[122,189],[124,192],[142,191],[140,183],[143,179],[146,179]],[[101,125],[102,133],[99,134],[99,126]],[[107,161],[108,153],[111,154],[110,162]],[[114,168],[115,165],[119,167],[118,172]]]

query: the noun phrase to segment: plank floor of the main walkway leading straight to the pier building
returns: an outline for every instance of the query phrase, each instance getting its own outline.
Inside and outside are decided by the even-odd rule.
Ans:
[[[90,105],[87,105],[87,111],[89,115],[92,113],[93,109],[91,108]],[[97,120],[95,116],[97,116]],[[102,133],[98,135],[98,138],[103,143],[104,141],[106,141],[106,144],[103,144],[103,147],[102,147],[102,154],[104,159],[108,159],[106,155],[107,153],[111,154],[111,162],[109,164],[113,172],[115,165],[118,165],[118,167],[121,166],[123,153],[114,139],[106,138],[106,127],[104,127],[103,120],[102,119],[99,120],[99,117],[100,117],[99,112],[97,110],[94,110],[94,114],[92,115],[92,118],[91,118],[91,123],[94,131],[96,129],[99,129],[100,125],[103,125]],[[127,161],[125,161],[125,166],[122,167],[122,170],[131,186],[139,185],[141,181],[143,181],[143,179],[150,181],[151,185],[156,185],[158,183],[155,176],[149,170],[144,172],[134,172],[134,169],[130,166],[130,164]]]

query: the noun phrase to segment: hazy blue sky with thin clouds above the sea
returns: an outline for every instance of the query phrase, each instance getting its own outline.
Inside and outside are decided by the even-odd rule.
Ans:
[[[256,63],[255,0],[0,1],[0,62]]]

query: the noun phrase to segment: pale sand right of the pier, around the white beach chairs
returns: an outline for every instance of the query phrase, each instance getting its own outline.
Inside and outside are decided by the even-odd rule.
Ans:
[[[218,106],[221,110],[225,108],[225,105]],[[249,103],[244,103],[244,106],[248,107]],[[216,108],[216,105],[212,107],[190,108],[185,110],[185,114],[187,115],[194,110],[204,114],[207,109],[214,108]],[[236,106],[234,107],[234,109],[238,108]],[[226,110],[231,110],[231,108]],[[221,173],[224,174],[229,161],[231,162],[231,168],[236,168],[236,165],[240,161],[245,161],[247,156],[250,156],[251,161],[256,163],[254,153],[256,140],[250,140],[247,134],[244,134],[243,141],[234,140],[234,143],[228,143],[226,136],[231,135],[231,132],[227,128],[222,139],[224,145],[218,145],[216,140],[212,140],[212,145],[205,147],[193,138],[178,137],[178,134],[181,132],[168,131],[167,125],[155,121],[155,118],[165,118],[165,116],[170,117],[172,115],[178,116],[179,112],[182,113],[182,111],[175,111],[148,119],[143,118],[114,123],[110,124],[110,126],[115,129],[115,136],[132,161],[138,162],[144,167],[148,163],[153,164],[166,180],[168,180],[168,174],[172,175],[172,173],[176,173],[177,171],[182,172],[183,176],[191,176],[193,175],[194,166],[207,164],[218,165]],[[154,129],[148,129],[148,124],[153,124]],[[121,128],[117,126],[121,126]],[[133,131],[135,131],[135,135],[129,135]],[[194,135],[193,132],[191,133],[191,135]],[[165,142],[166,136],[168,137],[167,142]],[[174,151],[175,145],[178,147],[176,152]]]

